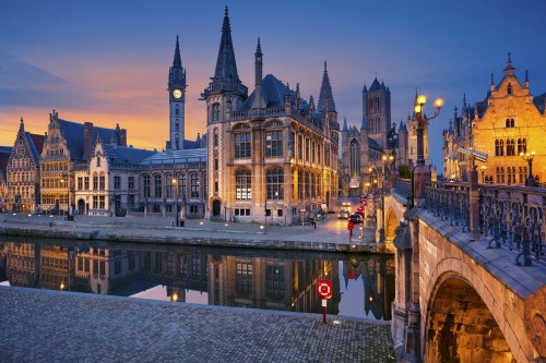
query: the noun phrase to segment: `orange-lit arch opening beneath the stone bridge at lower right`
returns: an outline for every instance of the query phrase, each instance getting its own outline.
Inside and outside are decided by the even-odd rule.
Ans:
[[[439,353],[440,343],[451,347],[451,353],[456,353],[453,352],[454,344],[449,342],[449,338],[453,336],[456,336],[459,346],[464,346],[461,350],[464,356],[459,354],[461,362],[529,360],[524,352],[530,351],[530,347],[522,347],[525,342],[520,340],[522,337],[518,337],[517,334],[524,331],[519,316],[523,300],[499,280],[483,274],[483,268],[476,267],[476,265],[471,266],[464,258],[443,258],[430,274],[428,283],[422,285],[420,295],[424,300],[420,307],[427,312],[422,326],[425,361],[442,361],[439,355],[435,358],[435,354]],[[455,295],[464,297],[464,300],[454,298]],[[452,304],[450,305],[448,301]],[[465,308],[467,311],[471,306],[474,310],[473,314],[465,312]],[[453,313],[450,313],[450,308]],[[458,312],[462,314],[456,315]],[[448,319],[449,314],[453,316]],[[480,317],[480,314],[486,317]],[[476,318],[473,320],[474,317]],[[453,324],[452,328],[444,327],[446,323]],[[452,334],[448,332],[448,328]],[[443,337],[440,336],[442,329],[444,329]],[[441,339],[448,341],[442,342]],[[483,355],[479,355],[483,354],[479,351],[485,347],[487,348],[484,350],[489,350],[488,353],[491,354],[489,359],[482,359]],[[448,361],[459,361],[455,355],[452,358]]]

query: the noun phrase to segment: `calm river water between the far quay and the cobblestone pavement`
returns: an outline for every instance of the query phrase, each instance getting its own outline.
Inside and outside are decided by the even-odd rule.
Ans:
[[[391,319],[394,258],[0,237],[0,285],[205,305]]]

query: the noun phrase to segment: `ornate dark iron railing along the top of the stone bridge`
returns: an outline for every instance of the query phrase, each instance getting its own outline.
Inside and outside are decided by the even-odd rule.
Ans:
[[[468,183],[427,182],[425,208],[451,226],[470,231]],[[514,251],[515,264],[545,258],[546,190],[479,184],[479,229],[490,249]]]

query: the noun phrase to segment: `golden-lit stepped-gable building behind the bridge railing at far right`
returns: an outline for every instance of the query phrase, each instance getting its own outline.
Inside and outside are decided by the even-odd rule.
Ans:
[[[443,132],[444,173],[455,180],[465,180],[472,166],[467,156],[455,155],[458,147],[473,148],[488,155],[487,162],[475,162],[480,172],[479,181],[495,184],[524,185],[531,164],[520,153],[534,152],[533,178],[543,183],[546,179],[544,159],[546,145],[546,94],[533,97],[529,72],[523,84],[515,75],[509,53],[503,77],[495,84],[494,74],[487,97],[468,109],[463,100],[463,114],[455,110],[454,125]]]

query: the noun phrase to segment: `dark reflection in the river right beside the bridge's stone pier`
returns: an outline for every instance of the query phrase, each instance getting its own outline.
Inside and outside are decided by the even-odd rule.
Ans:
[[[348,280],[363,279],[364,311],[370,312],[377,319],[391,319],[391,303],[394,300],[394,259],[372,255],[366,259],[351,257],[343,262],[345,288]]]

